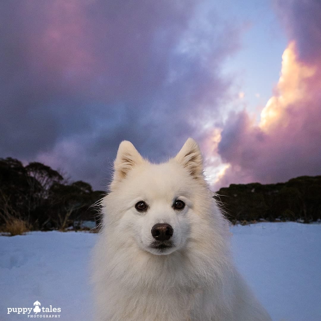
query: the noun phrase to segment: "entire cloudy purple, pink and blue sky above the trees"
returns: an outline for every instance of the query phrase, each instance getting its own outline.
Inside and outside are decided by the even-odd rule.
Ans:
[[[319,0],[0,3],[0,157],[106,189],[188,137],[214,190],[321,174]]]

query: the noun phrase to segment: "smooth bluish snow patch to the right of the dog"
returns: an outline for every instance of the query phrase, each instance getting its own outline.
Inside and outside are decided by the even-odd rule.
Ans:
[[[239,271],[273,321],[320,321],[321,225],[259,223],[232,232]]]

